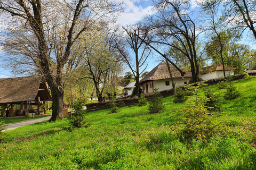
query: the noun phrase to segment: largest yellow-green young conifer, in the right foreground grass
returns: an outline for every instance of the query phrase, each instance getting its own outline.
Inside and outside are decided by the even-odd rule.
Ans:
[[[190,103],[188,108],[178,111],[183,117],[179,117],[174,123],[174,129],[181,140],[209,140],[218,132],[224,131],[222,122],[217,122],[219,115],[210,112],[211,107],[204,105],[208,100],[205,97],[198,98],[197,94],[198,88],[195,88],[195,103]]]

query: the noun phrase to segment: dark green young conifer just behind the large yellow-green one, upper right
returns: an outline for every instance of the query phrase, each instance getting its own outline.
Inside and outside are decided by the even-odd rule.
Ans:
[[[204,105],[207,106],[208,110],[211,112],[218,112],[220,111],[220,96],[219,94],[214,94],[213,90],[206,88],[204,92],[205,97],[207,100],[205,101]]]

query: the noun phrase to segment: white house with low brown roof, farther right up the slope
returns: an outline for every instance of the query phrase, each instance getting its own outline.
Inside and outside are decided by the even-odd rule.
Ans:
[[[235,67],[225,65],[226,76],[234,75],[234,70],[238,70],[238,69]],[[224,77],[223,65],[218,64],[218,65],[211,65],[211,66],[204,67],[203,71],[200,74],[201,74],[200,77],[203,80],[210,80],[210,79]]]

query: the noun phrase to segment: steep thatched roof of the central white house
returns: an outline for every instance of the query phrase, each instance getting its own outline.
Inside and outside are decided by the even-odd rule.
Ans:
[[[185,75],[182,77],[180,72],[172,64],[169,64],[169,65],[170,65],[173,78],[191,78],[192,77],[192,74],[190,71],[180,69],[181,71],[185,72]],[[170,79],[170,78],[171,77],[170,77],[170,73],[168,71],[166,62],[161,62],[153,70],[151,70],[143,79],[140,80],[140,84],[153,81],[153,80],[163,80],[163,79]]]

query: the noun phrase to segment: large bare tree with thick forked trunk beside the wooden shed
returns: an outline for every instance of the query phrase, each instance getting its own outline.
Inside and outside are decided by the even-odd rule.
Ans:
[[[49,121],[55,121],[63,115],[63,68],[74,44],[97,21],[107,21],[106,16],[119,10],[119,4],[108,0],[0,0],[0,10],[12,21],[3,46],[10,54],[25,57],[44,75],[53,100]]]

